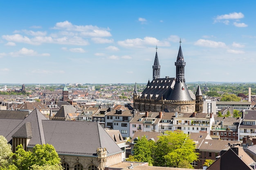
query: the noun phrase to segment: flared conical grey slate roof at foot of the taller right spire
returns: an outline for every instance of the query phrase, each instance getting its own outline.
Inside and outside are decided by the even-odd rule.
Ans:
[[[185,82],[175,82],[174,88],[171,94],[168,96],[167,100],[186,101],[193,99],[189,94],[189,90],[186,87]]]

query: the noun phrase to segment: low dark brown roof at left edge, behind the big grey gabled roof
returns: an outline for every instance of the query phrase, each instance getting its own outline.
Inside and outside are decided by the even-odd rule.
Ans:
[[[0,119],[24,119],[29,111],[0,110]]]

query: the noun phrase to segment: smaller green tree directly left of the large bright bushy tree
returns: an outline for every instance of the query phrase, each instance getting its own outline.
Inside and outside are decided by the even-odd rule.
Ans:
[[[153,148],[155,147],[155,142],[153,140],[148,141],[146,136],[138,137],[137,143],[134,145],[133,151],[134,156],[130,157],[130,161],[132,159],[139,162],[148,162],[150,166],[153,165]]]

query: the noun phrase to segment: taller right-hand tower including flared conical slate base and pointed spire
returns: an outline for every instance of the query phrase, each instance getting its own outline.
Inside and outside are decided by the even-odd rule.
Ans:
[[[177,101],[189,101],[193,100],[189,94],[189,90],[186,87],[185,83],[185,65],[184,57],[181,49],[181,41],[180,41],[180,49],[178,52],[177,60],[175,62],[176,66],[176,78],[175,85],[173,90],[168,97],[168,100],[177,100]]]

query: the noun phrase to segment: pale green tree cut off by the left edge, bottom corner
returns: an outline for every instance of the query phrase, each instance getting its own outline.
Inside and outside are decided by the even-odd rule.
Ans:
[[[11,162],[11,145],[7,143],[5,137],[0,135],[0,169],[6,168]]]

